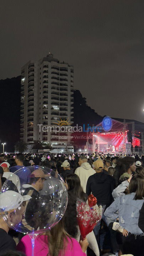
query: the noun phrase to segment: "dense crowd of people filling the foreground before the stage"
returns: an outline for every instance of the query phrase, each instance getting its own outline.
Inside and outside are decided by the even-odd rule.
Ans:
[[[57,225],[37,236],[34,255],[144,255],[144,155],[1,154],[0,187],[8,179],[11,193],[15,188],[18,197],[22,181],[26,188],[25,196],[31,190],[33,198],[37,197],[47,188],[42,173],[35,171],[31,182],[27,174],[11,175],[22,167],[35,165],[52,169],[55,175],[63,178],[68,191],[68,206]],[[103,214],[94,230],[82,240],[76,201],[79,198],[87,202],[90,194],[97,198]],[[21,204],[25,203],[24,197],[19,198]],[[7,199],[0,194],[0,208],[2,200]],[[22,208],[21,216],[23,214]],[[13,218],[12,213],[10,218]],[[0,235],[0,255],[31,256],[30,237],[12,232],[2,215]]]

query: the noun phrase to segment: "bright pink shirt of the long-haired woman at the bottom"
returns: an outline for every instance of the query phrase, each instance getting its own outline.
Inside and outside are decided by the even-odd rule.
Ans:
[[[48,254],[48,244],[46,243],[47,236],[38,235],[34,242],[34,256],[47,256]],[[24,236],[17,245],[17,250],[22,251],[26,256],[32,255],[32,244],[29,235]],[[86,256],[80,247],[78,241],[74,238],[68,238],[68,244],[63,256]],[[59,256],[62,256],[60,253]]]

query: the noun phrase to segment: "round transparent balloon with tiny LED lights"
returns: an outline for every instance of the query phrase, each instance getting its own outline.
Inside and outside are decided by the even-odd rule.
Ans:
[[[3,198],[12,195],[6,200],[9,202],[0,200],[0,215],[9,227],[23,234],[41,234],[60,221],[68,203],[68,193],[60,175],[47,167],[28,166],[11,174],[10,178],[0,192],[5,193],[0,194]]]

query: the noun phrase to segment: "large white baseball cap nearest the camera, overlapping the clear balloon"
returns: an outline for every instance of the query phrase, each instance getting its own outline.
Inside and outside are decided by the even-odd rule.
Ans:
[[[17,209],[23,201],[30,200],[31,196],[21,196],[12,190],[8,190],[0,194],[0,210],[2,212],[8,212],[9,210]]]

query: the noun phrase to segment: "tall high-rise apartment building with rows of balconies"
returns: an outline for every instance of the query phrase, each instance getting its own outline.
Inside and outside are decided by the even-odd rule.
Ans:
[[[54,126],[58,121],[68,119],[73,125],[73,79],[73,66],[53,58],[51,53],[22,67],[21,140],[28,145],[33,140],[50,142],[56,151],[66,151],[70,134],[43,132],[38,124]]]

